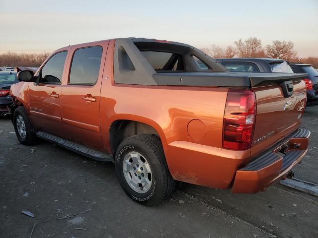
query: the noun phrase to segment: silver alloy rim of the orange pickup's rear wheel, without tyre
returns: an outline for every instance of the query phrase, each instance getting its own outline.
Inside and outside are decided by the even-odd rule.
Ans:
[[[123,172],[129,186],[138,193],[151,188],[152,172],[146,158],[138,152],[129,152],[123,161]]]

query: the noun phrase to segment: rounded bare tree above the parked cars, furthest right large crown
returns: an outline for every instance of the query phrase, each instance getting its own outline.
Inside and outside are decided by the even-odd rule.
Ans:
[[[290,60],[297,56],[294,51],[294,43],[291,41],[273,41],[272,45],[266,46],[266,53],[270,58],[283,60]]]

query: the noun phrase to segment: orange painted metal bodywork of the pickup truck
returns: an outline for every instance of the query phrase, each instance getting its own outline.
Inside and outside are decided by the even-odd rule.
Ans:
[[[96,84],[69,85],[74,51],[96,45],[103,48]],[[11,87],[11,95],[16,104],[24,105],[36,128],[110,154],[115,151],[111,150],[109,129],[116,120],[134,120],[152,126],[158,132],[169,171],[176,180],[229,188],[237,175],[235,182],[238,185],[234,191],[240,191],[241,186],[251,186],[245,192],[254,192],[279,175],[280,162],[256,174],[237,171],[250,161],[251,155],[259,154],[265,147],[296,130],[300,120],[291,123],[288,128],[281,128],[284,133],[278,133],[266,143],[252,144],[251,149],[223,149],[223,120],[229,88],[116,84],[113,71],[114,46],[115,40],[108,40],[60,49],[56,52],[68,51],[61,85],[19,83]],[[303,88],[303,84],[296,85],[295,95],[299,96],[297,94],[301,94]],[[49,94],[52,92],[60,97],[51,98]],[[266,92],[264,94],[262,90],[255,89],[258,100],[256,124],[266,120],[272,123],[272,117],[277,115],[275,111],[273,115],[261,114],[263,107],[273,107],[271,102],[266,101],[268,94],[271,98],[281,94],[277,87],[270,86]],[[83,100],[87,95],[96,101]],[[284,103],[283,98],[280,104]],[[276,99],[272,100],[273,104],[277,103]],[[256,126],[254,138],[268,133],[268,125],[264,126]],[[257,183],[253,184],[255,180]]]

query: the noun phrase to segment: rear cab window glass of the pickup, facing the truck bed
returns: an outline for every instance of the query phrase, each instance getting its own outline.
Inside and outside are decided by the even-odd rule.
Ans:
[[[156,71],[184,70],[182,58],[170,52],[142,51],[144,57]]]

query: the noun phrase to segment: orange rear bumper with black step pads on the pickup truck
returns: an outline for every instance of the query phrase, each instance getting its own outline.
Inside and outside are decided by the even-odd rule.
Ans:
[[[237,171],[232,192],[255,193],[280,179],[302,160],[308,150],[310,131],[301,128]]]

